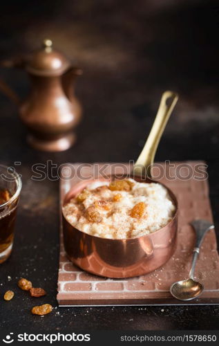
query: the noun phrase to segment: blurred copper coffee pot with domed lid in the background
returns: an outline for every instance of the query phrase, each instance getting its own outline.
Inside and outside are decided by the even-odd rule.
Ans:
[[[21,121],[28,127],[28,143],[35,149],[50,152],[72,146],[75,142],[73,128],[82,116],[73,81],[82,70],[55,51],[50,39],[45,39],[43,48],[30,57],[5,61],[1,65],[23,68],[30,77],[32,88],[23,102],[0,80],[0,90],[19,106]]]

